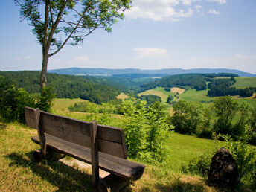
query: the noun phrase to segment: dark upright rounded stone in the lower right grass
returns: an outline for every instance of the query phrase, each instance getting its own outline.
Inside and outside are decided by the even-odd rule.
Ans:
[[[217,150],[217,153],[211,159],[208,185],[221,188],[234,188],[237,183],[237,165],[230,151],[222,147]]]

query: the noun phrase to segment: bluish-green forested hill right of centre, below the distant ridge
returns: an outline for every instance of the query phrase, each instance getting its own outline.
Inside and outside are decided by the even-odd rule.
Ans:
[[[148,89],[154,89],[157,86],[161,87],[182,87],[199,90],[207,89],[207,81],[213,80],[214,77],[238,77],[237,74],[177,74],[161,78],[152,83],[141,85],[140,92]]]

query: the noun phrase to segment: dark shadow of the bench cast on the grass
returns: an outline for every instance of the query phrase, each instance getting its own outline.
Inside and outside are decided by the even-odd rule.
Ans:
[[[9,164],[10,167],[28,168],[37,176],[57,186],[59,191],[93,191],[94,189],[90,175],[62,164],[60,161],[37,163],[33,159],[33,151],[25,154],[11,153],[4,157],[12,161]]]

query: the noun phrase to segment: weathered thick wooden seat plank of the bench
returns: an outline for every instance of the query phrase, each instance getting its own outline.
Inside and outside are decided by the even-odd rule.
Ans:
[[[45,138],[48,147],[91,164],[91,150],[88,147],[83,147],[48,134],[45,134]],[[40,143],[37,135],[33,136],[32,140],[37,144]],[[141,178],[145,165],[99,152],[99,167],[121,178],[136,181]]]

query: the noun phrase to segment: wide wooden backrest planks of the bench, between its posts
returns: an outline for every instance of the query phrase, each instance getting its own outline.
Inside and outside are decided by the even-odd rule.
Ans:
[[[36,109],[25,107],[25,119],[28,127],[36,129],[39,126],[49,135],[85,147],[91,147],[89,122],[43,111],[39,112],[39,118],[36,119],[35,117]],[[99,151],[127,159],[123,129],[97,124],[97,138]]]

